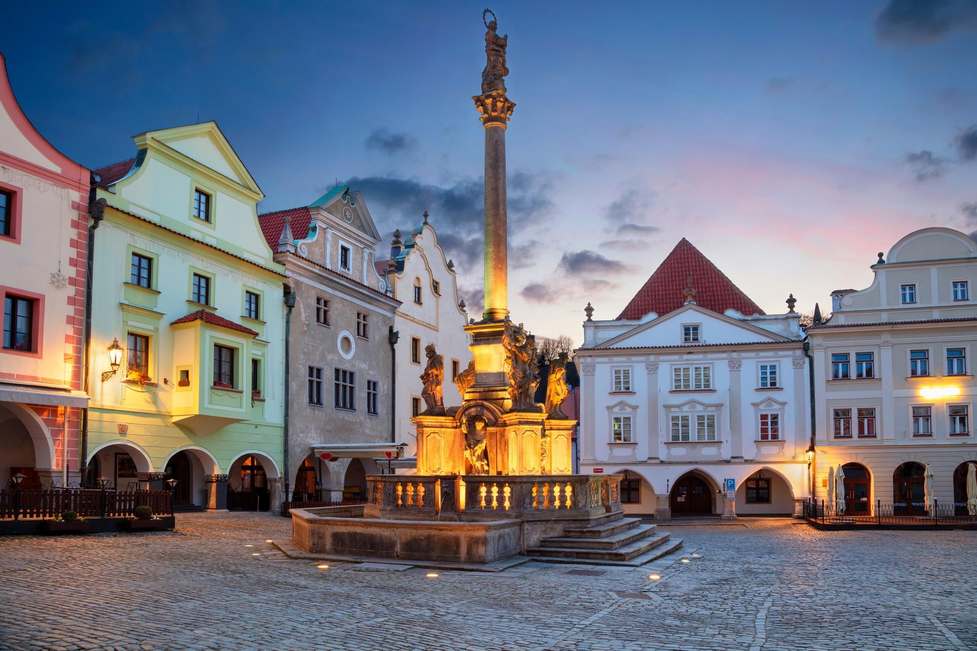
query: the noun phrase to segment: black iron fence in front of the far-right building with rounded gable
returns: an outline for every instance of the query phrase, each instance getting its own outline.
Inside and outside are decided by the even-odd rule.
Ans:
[[[892,502],[883,504],[881,500],[874,503],[856,503],[858,509],[852,505],[832,504],[825,500],[809,500],[803,503],[802,516],[808,522],[825,525],[917,525],[927,527],[940,526],[977,526],[977,515],[970,515],[965,503],[940,504],[934,500],[927,506],[924,502]]]

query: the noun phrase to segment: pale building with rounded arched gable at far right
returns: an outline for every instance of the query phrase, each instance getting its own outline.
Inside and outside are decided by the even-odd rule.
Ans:
[[[815,497],[827,499],[828,472],[841,466],[846,512],[922,513],[928,466],[937,504],[965,512],[966,469],[977,463],[977,244],[923,228],[878,255],[871,286],[832,293],[830,318],[807,331]]]

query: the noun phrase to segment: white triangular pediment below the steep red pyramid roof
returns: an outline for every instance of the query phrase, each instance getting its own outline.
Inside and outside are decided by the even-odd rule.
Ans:
[[[684,326],[699,326],[700,341],[684,340]],[[790,340],[725,314],[688,304],[635,326],[598,348],[767,344]]]

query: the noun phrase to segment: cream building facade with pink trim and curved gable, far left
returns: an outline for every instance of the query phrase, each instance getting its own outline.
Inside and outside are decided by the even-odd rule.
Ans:
[[[21,110],[0,55],[0,487],[78,481],[90,172]]]

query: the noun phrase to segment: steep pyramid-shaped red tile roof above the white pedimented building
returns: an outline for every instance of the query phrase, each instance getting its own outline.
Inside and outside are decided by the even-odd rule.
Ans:
[[[719,313],[732,307],[747,316],[764,313],[683,237],[617,319],[637,320],[648,312],[657,312],[660,316],[678,309],[685,304],[682,291],[689,276],[692,276],[692,286],[696,290],[696,303],[701,307]]]

